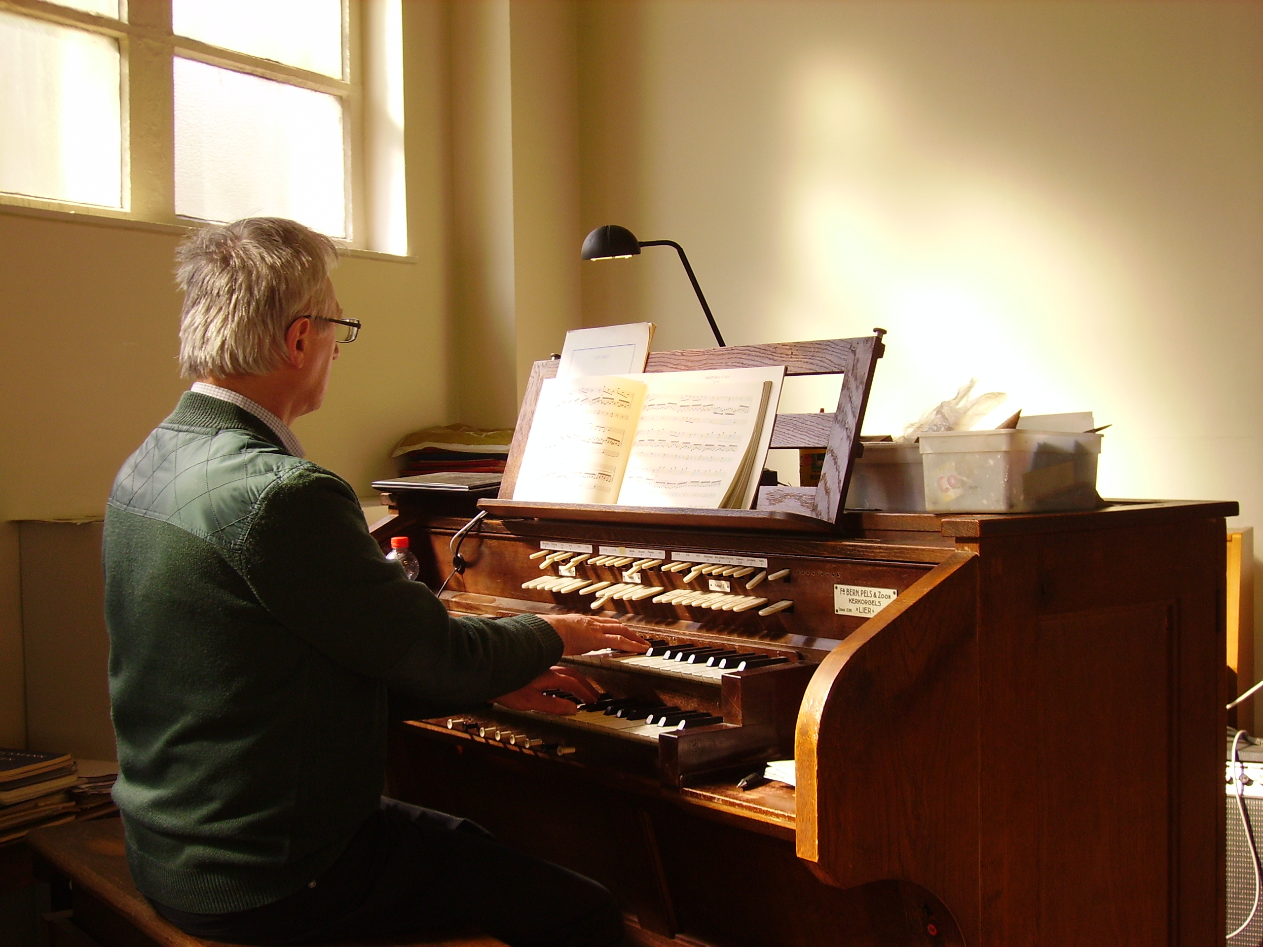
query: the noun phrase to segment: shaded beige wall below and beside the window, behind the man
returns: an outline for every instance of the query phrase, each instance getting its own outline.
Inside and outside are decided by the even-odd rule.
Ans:
[[[399,437],[450,419],[446,13],[417,0],[404,18],[412,259],[342,260],[333,283],[364,332],[325,408],[294,426],[308,456],[361,494],[393,472]],[[179,236],[0,212],[0,745],[25,739],[11,521],[100,516],[119,465],[187,386],[174,362]]]

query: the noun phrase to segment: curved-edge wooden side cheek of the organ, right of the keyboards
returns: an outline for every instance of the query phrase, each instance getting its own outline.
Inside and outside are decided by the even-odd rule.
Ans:
[[[798,717],[798,856],[899,878],[979,929],[976,559],[956,553],[821,664]]]

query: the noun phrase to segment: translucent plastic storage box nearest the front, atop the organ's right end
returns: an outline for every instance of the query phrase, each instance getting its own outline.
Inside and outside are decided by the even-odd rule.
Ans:
[[[866,448],[865,448],[866,450]],[[1100,434],[1060,431],[945,431],[921,436],[931,513],[1090,510]]]

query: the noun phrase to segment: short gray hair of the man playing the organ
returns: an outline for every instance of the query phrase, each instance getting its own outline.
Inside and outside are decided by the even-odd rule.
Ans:
[[[192,234],[176,251],[184,290],[179,370],[184,378],[265,375],[284,357],[285,330],[325,306],[337,247],[282,217],[248,217]]]

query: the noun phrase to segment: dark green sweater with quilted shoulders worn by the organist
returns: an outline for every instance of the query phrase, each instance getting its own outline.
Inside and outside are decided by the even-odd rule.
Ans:
[[[538,617],[451,617],[346,481],[187,393],[105,518],[114,795],[148,896],[220,913],[317,879],[376,808],[388,688],[433,713],[561,655]]]

